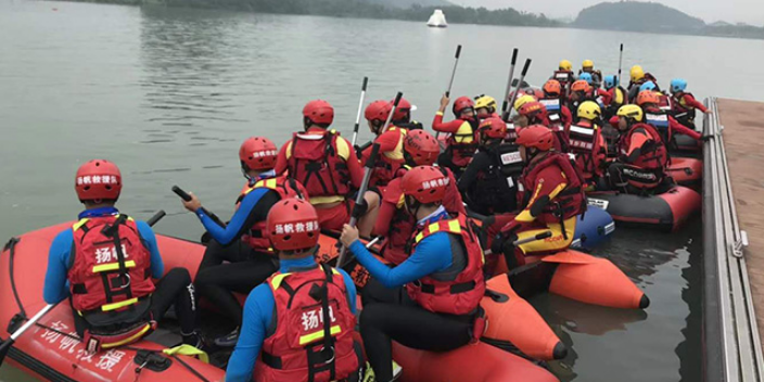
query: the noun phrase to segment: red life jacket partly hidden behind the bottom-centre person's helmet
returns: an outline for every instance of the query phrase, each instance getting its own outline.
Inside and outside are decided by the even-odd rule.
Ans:
[[[244,196],[246,196],[250,192],[262,188],[278,192],[281,200],[289,198],[300,198],[306,201],[308,200],[308,192],[305,190],[303,184],[286,176],[278,176],[276,178],[260,179],[252,186],[250,186],[249,182],[244,184],[244,188],[241,190],[241,194],[237,199],[237,209],[239,209],[239,204],[241,204],[241,201],[244,200]],[[255,251],[275,255],[276,253],[273,252],[273,249],[270,247],[270,240],[264,238],[263,235],[264,230],[265,220],[257,221],[254,226],[252,226],[252,228],[250,228],[249,232],[241,237],[241,240]]]

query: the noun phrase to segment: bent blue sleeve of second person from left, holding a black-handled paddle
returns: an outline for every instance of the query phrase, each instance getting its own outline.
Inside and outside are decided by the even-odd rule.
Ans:
[[[202,220],[204,229],[209,232],[209,234],[213,237],[213,239],[215,239],[215,241],[222,245],[228,245],[235,239],[240,238],[244,233],[244,231],[246,231],[258,220],[258,218],[256,218],[256,215],[263,215],[262,209],[266,207],[267,209],[270,209],[275,202],[270,202],[267,206],[260,205],[263,204],[260,203],[262,201],[265,202],[263,196],[268,194],[268,191],[270,190],[266,188],[259,188],[247,193],[246,196],[242,199],[241,203],[239,204],[239,209],[237,209],[237,212],[231,217],[231,221],[226,227],[220,227],[217,222],[212,219],[212,217],[207,216],[207,214],[205,214],[202,208],[199,208],[196,211],[196,216],[199,216],[199,219]],[[276,199],[276,201],[278,201],[278,198]],[[268,215],[267,209],[265,211],[265,216]]]

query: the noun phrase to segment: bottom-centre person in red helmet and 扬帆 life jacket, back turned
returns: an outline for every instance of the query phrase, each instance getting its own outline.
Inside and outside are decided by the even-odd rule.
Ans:
[[[246,297],[226,381],[357,381],[356,288],[344,270],[316,263],[316,208],[300,199],[279,201],[266,233],[279,271]]]

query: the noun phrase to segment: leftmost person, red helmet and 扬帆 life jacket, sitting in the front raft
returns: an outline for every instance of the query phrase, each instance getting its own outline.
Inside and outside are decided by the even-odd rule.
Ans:
[[[186,268],[165,273],[151,227],[114,207],[122,187],[112,162],[77,169],[85,211],[51,243],[42,296],[48,304],[69,298],[75,330],[91,353],[140,341],[173,305],[183,343],[201,348],[191,276]]]

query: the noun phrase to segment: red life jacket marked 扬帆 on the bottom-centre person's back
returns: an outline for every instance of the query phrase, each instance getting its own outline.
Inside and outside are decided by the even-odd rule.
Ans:
[[[329,382],[358,371],[356,318],[339,271],[317,265],[306,271],[276,272],[267,283],[276,301],[276,324],[263,342],[255,381]]]

